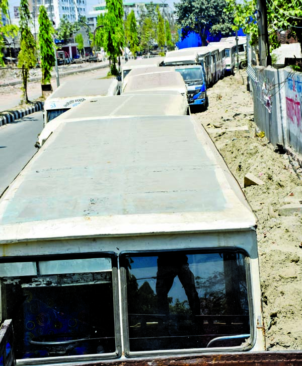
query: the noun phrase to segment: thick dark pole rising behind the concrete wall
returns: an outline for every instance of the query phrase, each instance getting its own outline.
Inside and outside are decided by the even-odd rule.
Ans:
[[[267,30],[266,0],[257,0],[256,19],[259,33],[258,48],[259,48],[260,65],[269,66],[272,64],[272,60],[269,50],[269,40]]]

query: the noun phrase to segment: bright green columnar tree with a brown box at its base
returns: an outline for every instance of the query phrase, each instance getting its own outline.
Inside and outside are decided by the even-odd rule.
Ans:
[[[51,70],[55,63],[55,54],[53,48],[54,29],[43,5],[40,6],[39,11],[38,39],[40,46],[42,84],[49,84],[51,79]]]

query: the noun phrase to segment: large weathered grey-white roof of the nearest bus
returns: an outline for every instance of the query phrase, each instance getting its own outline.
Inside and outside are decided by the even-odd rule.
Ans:
[[[253,230],[255,216],[192,116],[63,123],[0,199],[0,243]]]

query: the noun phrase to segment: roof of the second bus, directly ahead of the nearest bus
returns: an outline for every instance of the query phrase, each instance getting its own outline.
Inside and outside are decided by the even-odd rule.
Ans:
[[[38,137],[38,144],[42,146],[51,133],[66,122],[129,116],[186,115],[188,108],[187,99],[180,93],[123,94],[94,98],[48,122]]]

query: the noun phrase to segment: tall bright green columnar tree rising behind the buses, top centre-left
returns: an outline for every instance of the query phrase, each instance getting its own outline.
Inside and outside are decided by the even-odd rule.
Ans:
[[[106,51],[109,54],[111,65],[111,74],[117,75],[116,58],[122,54],[125,45],[124,25],[123,25],[123,1],[107,0],[106,1],[106,32],[107,45]]]

